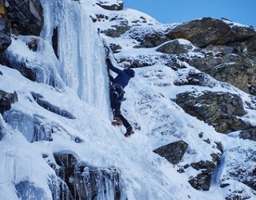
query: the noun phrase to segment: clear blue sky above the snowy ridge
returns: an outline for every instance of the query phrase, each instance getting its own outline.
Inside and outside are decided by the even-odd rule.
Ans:
[[[256,28],[256,0],[123,0],[125,8],[149,14],[162,23],[197,18],[228,18]]]

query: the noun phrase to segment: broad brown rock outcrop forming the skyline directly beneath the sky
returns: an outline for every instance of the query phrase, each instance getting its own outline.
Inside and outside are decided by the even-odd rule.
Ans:
[[[214,18],[202,18],[183,23],[170,30],[166,36],[170,39],[184,38],[194,46],[229,45],[242,42],[256,35],[253,27],[235,26],[231,22]]]

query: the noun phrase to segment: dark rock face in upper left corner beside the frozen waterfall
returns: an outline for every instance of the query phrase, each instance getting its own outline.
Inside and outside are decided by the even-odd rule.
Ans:
[[[40,35],[43,26],[43,10],[40,0],[0,0],[0,15],[2,16],[0,18],[0,64],[19,70],[31,81],[41,82],[42,66],[29,66],[26,59],[19,60],[18,55],[6,50],[11,43],[11,33],[28,35],[24,37],[28,48],[34,51],[38,49],[40,38],[36,36]],[[50,80],[50,84],[54,86],[54,80]]]

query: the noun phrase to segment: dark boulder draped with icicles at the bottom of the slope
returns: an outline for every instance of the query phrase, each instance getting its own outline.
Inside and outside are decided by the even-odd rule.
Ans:
[[[120,170],[90,166],[78,161],[72,152],[57,152],[54,158],[54,170],[68,186],[66,191],[60,190],[61,196],[66,193],[69,199],[126,199]]]

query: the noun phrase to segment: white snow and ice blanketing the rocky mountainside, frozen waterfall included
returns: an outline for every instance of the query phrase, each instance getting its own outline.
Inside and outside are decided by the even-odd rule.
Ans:
[[[233,166],[243,166],[245,171],[254,168],[255,159],[246,160],[247,157],[239,152],[248,150],[253,155],[255,142],[241,140],[235,133],[231,134],[233,137],[219,134],[172,101],[176,94],[190,90],[231,92],[250,101],[249,95],[241,90],[223,86],[210,77],[209,82],[214,82],[214,87],[175,86],[174,82],[182,78],[181,72],[185,76],[195,69],[187,66],[182,71],[174,71],[156,62],[153,66],[134,69],[136,76],[126,89],[127,99],[122,103],[122,112],[134,126],[135,134],[125,138],[123,127],[111,126],[109,83],[101,37],[108,44],[116,40],[122,44],[123,49],[118,54],[110,55],[113,62],[114,57],[118,60],[161,53],[155,48],[134,49],[136,42],[126,35],[108,38],[98,34],[99,27],[105,30],[113,26],[114,21],[94,23],[91,17],[101,13],[110,18],[126,18],[128,22],[146,19],[145,25],[144,22],[140,24],[146,30],[153,25],[161,30],[165,25],[135,10],[107,11],[95,3],[86,0],[42,1],[45,26],[37,52],[28,49],[26,38],[12,38],[8,54],[16,60],[25,59],[32,69],[40,67],[42,81],[32,82],[18,70],[0,65],[0,90],[18,94],[18,102],[14,102],[3,117],[0,115],[3,124],[0,199],[53,199],[50,182],[58,178],[50,163],[54,163],[54,154],[65,152],[74,154],[78,163],[120,170],[125,191],[122,199],[225,199],[230,188],[242,191],[244,198],[255,199],[255,192],[235,179],[228,179],[230,187],[219,186],[220,180],[227,176],[226,171],[232,173]],[[51,47],[56,26],[58,58]],[[50,77],[54,77],[54,87],[49,85]],[[52,112],[40,106],[35,94],[40,94],[43,101],[50,102],[62,112]],[[63,112],[66,114],[60,114]],[[248,110],[248,120],[255,115],[253,110]],[[44,127],[44,130],[38,130],[38,141],[34,139],[35,121]],[[176,165],[153,152],[178,140],[187,142],[189,147]],[[193,162],[212,160],[211,154],[220,154],[218,142],[222,143],[222,164],[214,171],[210,190],[195,190],[188,181],[198,171],[192,167],[185,173],[178,171]],[[114,196],[97,199],[114,199]]]

